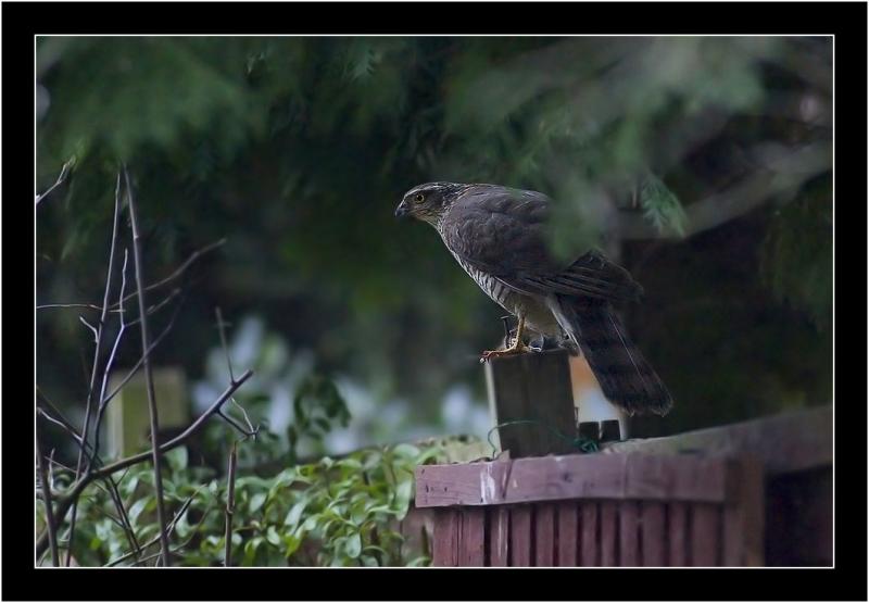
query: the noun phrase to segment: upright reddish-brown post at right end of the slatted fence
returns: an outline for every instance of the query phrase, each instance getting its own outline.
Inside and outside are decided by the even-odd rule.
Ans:
[[[733,499],[723,511],[723,565],[764,565],[764,469],[751,458],[730,466]]]

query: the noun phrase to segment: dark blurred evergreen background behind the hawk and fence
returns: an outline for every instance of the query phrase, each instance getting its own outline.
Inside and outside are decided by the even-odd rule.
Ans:
[[[314,374],[351,418],[308,453],[484,437],[503,311],[393,217],[431,180],[545,192],[555,253],[600,246],[644,286],[625,317],[676,406],[632,435],[831,401],[830,38],[40,37],[36,101],[37,190],[71,165],[36,210],[37,304],[101,303],[121,161],[150,281],[226,238],[154,353],[191,413],[227,384],[219,306],[277,438]],[[39,387],[77,425],[79,316],[37,311]],[[117,366],[139,353],[131,329]]]

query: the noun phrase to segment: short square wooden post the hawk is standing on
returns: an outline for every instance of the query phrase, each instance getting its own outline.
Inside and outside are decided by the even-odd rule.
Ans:
[[[569,355],[565,350],[517,354],[486,363],[489,404],[502,450],[511,457],[569,454],[576,437]],[[541,403],[545,400],[545,404]],[[563,436],[558,436],[562,434]]]

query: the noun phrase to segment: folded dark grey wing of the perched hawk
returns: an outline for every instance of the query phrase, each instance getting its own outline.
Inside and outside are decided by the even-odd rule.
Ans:
[[[481,186],[463,194],[444,216],[444,242],[459,259],[529,294],[562,293],[633,300],[642,288],[628,272],[590,251],[557,262],[545,243],[551,201],[539,192]]]

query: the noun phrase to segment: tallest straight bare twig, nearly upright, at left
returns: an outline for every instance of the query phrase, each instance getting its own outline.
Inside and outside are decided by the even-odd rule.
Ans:
[[[139,292],[139,317],[141,318],[142,335],[142,356],[144,359],[144,385],[148,391],[148,413],[151,423],[151,451],[154,465],[154,491],[156,494],[156,520],[160,529],[160,548],[163,552],[163,567],[172,565],[169,558],[169,540],[166,535],[166,511],[163,503],[163,476],[160,473],[160,420],[156,410],[156,399],[154,395],[154,379],[151,373],[151,355],[148,353],[148,304],[144,301],[144,266],[142,265],[141,233],[139,222],[136,216],[136,203],[134,201],[133,188],[129,181],[129,172],[124,166],[124,181],[127,188],[127,206],[129,209],[129,221],[133,228],[133,261],[136,265],[136,288]],[[123,298],[122,298],[123,301]],[[108,305],[109,300],[103,302]]]

